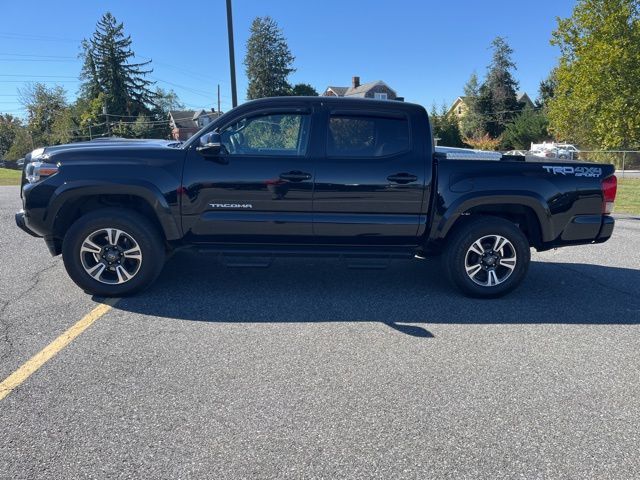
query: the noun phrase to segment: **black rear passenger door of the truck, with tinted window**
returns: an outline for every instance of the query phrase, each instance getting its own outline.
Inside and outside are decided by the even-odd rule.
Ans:
[[[325,110],[324,156],[316,164],[313,229],[319,243],[417,243],[425,223],[423,142],[409,115],[380,110]]]

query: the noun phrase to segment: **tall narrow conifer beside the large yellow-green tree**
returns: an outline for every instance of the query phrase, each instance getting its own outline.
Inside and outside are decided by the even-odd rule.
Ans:
[[[491,47],[493,58],[487,78],[480,87],[478,111],[486,117],[486,132],[497,138],[522,109],[522,105],[518,103],[516,95],[518,82],[512,74],[516,70],[512,60],[513,49],[502,37],[496,37]]]

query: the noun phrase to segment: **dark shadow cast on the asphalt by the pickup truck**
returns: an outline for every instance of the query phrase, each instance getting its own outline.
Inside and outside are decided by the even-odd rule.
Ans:
[[[638,270],[532,262],[505,298],[476,300],[449,286],[437,260],[349,269],[336,259],[276,259],[231,268],[216,256],[176,253],[147,291],[116,309],[201,322],[380,322],[414,337],[429,324],[638,324]]]

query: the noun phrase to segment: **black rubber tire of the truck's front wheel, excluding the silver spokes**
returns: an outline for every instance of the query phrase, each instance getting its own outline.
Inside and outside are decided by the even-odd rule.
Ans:
[[[141,252],[139,265],[135,263],[138,260],[130,261],[134,262],[132,270],[135,273],[123,283],[103,283],[89,275],[83,265],[87,261],[87,255],[91,261],[91,254],[85,252],[85,257],[81,256],[85,240],[93,233],[107,228],[124,232],[127,237],[123,237],[124,240],[121,241],[131,239],[137,242]],[[71,279],[85,292],[100,297],[123,297],[148,287],[160,274],[165,262],[164,239],[162,233],[139,213],[124,208],[104,208],[80,217],[71,225],[62,242],[62,258]],[[121,260],[123,264],[126,261],[124,258]],[[108,276],[107,274],[120,278],[120,274],[116,276],[115,272],[106,272],[104,276]]]

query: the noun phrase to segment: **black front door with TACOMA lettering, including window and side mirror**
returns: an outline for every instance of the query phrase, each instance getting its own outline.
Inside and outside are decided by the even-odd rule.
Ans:
[[[311,241],[311,119],[304,108],[248,113],[219,128],[220,155],[205,157],[192,148],[182,195],[188,240]]]

